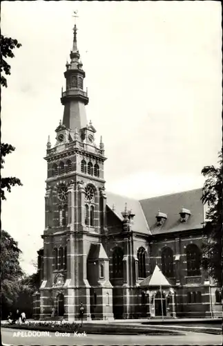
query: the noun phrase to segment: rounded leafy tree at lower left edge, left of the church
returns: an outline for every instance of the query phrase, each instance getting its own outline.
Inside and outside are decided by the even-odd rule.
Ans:
[[[21,250],[6,230],[1,230],[1,312],[4,317],[12,309],[20,291],[23,275],[19,264]]]

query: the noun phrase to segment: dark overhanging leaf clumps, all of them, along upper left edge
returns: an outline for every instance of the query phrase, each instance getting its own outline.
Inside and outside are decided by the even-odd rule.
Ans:
[[[12,39],[11,37],[5,37],[1,35],[1,85],[2,86],[8,86],[6,77],[4,77],[3,73],[5,75],[10,75],[11,74],[11,66],[8,64],[6,59],[8,57],[14,57],[14,53],[12,53],[12,50],[14,48],[19,48],[21,47],[21,44],[17,41],[17,39]],[[10,154],[11,152],[14,152],[14,147],[10,144],[5,144],[1,143],[1,169],[3,169],[3,163],[4,157],[7,154]],[[8,177],[8,178],[2,178],[1,179],[1,199],[6,199],[5,196],[5,191],[4,189],[6,188],[8,192],[11,192],[11,187],[14,185],[22,185],[21,181],[18,178],[15,178],[14,176]]]

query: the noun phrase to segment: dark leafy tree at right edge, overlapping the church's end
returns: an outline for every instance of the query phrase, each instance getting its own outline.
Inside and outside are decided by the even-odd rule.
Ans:
[[[202,265],[222,287],[222,154],[219,158],[219,167],[206,166],[202,170],[206,177],[202,202],[209,207],[204,224],[207,238],[203,245]]]

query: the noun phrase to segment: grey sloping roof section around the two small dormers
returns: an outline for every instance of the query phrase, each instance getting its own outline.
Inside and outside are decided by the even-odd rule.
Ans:
[[[204,222],[204,206],[200,200],[202,189],[167,194],[164,196],[142,199],[140,202],[146,221],[153,235],[160,233],[172,233],[182,230],[202,228]],[[180,210],[186,208],[191,211],[186,222],[180,222]],[[167,215],[162,226],[157,226],[155,216],[158,210]]]

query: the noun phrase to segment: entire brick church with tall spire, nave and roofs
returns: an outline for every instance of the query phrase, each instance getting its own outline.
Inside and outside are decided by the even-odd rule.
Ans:
[[[221,316],[220,289],[201,267],[202,189],[140,201],[107,192],[76,25],[64,77],[64,116],[46,149],[34,317],[75,321],[82,305],[84,320]]]

